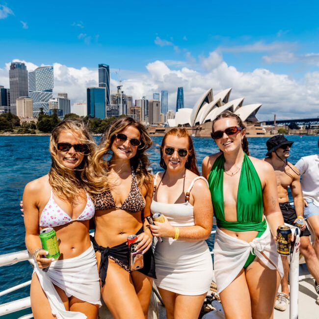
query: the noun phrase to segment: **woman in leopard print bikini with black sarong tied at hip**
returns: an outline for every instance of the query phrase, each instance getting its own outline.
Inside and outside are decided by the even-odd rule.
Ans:
[[[114,318],[147,318],[155,278],[150,215],[153,179],[148,173],[147,149],[152,145],[144,126],[121,117],[103,134],[90,167],[96,231],[93,245],[101,293]],[[136,234],[142,269],[131,271],[127,237]]]

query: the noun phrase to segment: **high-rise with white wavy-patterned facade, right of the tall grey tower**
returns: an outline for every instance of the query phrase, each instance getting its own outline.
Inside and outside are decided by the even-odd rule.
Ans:
[[[53,66],[40,66],[29,72],[29,97],[33,102],[33,117],[38,117],[40,108],[43,108],[44,113],[48,113],[53,87]]]

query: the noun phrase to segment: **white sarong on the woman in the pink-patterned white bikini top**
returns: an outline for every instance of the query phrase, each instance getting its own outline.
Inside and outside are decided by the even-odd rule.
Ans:
[[[36,272],[41,287],[48,297],[52,314],[57,319],[87,317],[80,312],[66,311],[53,284],[61,288],[68,297],[75,296],[80,300],[101,306],[99,274],[93,245],[80,256],[52,262],[47,272],[42,271],[35,264],[33,272]]]

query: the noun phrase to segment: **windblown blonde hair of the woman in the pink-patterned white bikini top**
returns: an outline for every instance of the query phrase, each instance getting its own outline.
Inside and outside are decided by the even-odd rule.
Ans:
[[[57,142],[62,131],[73,133],[79,138],[80,143],[88,146],[87,154],[84,154],[82,162],[75,169],[65,167],[57,158]],[[81,120],[66,119],[61,121],[52,131],[49,150],[52,159],[49,183],[54,193],[70,203],[77,202],[77,198],[80,196],[80,189],[86,189],[87,169],[91,165],[96,151],[96,143],[91,133]]]

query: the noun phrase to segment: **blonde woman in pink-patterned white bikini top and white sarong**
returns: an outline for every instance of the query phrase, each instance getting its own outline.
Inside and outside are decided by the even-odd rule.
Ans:
[[[26,245],[35,261],[30,288],[34,318],[97,317],[99,276],[89,237],[94,205],[85,190],[95,148],[82,121],[60,122],[50,139],[50,172],[25,188]],[[58,260],[46,258],[41,248],[39,232],[47,227],[60,239]]]

